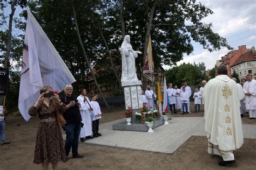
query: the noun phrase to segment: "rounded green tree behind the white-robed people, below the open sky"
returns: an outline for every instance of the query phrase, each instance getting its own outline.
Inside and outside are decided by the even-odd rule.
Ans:
[[[188,82],[188,86],[201,86],[201,82],[206,79],[206,70],[204,62],[199,63],[183,63],[180,66],[166,70],[166,82],[173,83],[179,88],[183,86],[183,82]]]

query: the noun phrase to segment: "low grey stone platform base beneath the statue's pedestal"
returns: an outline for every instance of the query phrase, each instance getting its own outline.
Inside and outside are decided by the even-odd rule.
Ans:
[[[160,125],[164,124],[164,120],[160,119],[159,121],[155,121],[153,124],[152,129],[157,128]],[[127,130],[127,131],[142,131],[147,132],[149,128],[147,127],[147,124],[131,124],[127,125],[127,122],[120,122],[117,124],[112,125],[113,130]]]

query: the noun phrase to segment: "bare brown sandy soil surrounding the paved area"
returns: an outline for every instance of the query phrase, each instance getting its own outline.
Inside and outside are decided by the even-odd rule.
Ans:
[[[191,109],[193,112],[193,110]],[[200,114],[174,116],[203,116]],[[246,114],[248,115],[248,114]],[[111,112],[103,109],[100,123],[123,118],[123,108],[114,107]],[[247,116],[242,120],[256,119]],[[243,121],[245,123],[246,121]],[[39,119],[32,117],[29,122],[22,117],[8,118],[6,138],[9,145],[0,145],[0,169],[41,169],[41,165],[33,164],[33,152],[36,143],[36,132]],[[224,169],[218,166],[221,157],[207,153],[206,137],[193,136],[181,145],[173,154],[128,150],[118,147],[108,147],[79,143],[78,151],[83,159],[70,158],[68,162],[59,162],[59,169]],[[256,139],[245,139],[244,145],[234,152],[237,161],[235,169],[255,169]],[[50,165],[51,168],[51,165]],[[231,169],[231,168],[229,168]]]

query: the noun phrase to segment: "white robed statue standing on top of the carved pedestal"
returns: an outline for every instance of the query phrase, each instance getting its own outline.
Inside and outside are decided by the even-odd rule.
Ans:
[[[142,54],[140,51],[134,51],[132,45],[130,44],[130,36],[126,35],[124,41],[120,47],[120,52],[122,55],[122,78],[121,82],[124,81],[138,81],[135,69],[135,58],[138,57],[138,53]]]

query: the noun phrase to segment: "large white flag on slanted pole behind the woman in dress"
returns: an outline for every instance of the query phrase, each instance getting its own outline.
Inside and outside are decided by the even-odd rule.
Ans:
[[[18,102],[24,119],[28,121],[31,117],[28,110],[37,101],[42,87],[50,86],[60,92],[66,84],[75,81],[41,26],[28,11]]]

